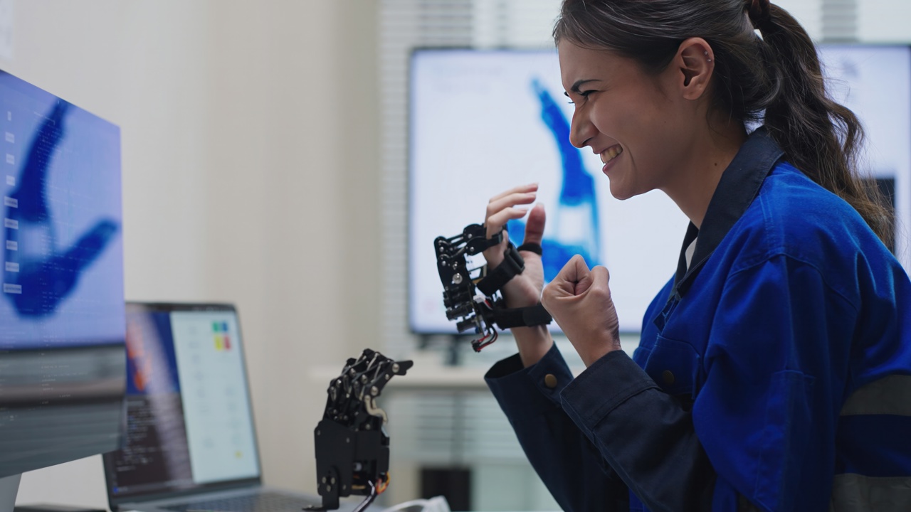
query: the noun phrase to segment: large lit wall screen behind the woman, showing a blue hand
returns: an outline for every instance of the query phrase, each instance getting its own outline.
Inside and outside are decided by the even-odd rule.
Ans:
[[[835,97],[865,123],[866,165],[894,187],[899,218],[907,218],[911,52],[905,46],[827,46],[821,53]],[[610,195],[599,156],[569,144],[573,107],[563,92],[556,50],[413,54],[408,317],[414,332],[455,333],[455,322],[445,317],[435,238],[483,222],[487,200],[530,182],[539,184],[538,200],[548,214],[545,279],[576,253],[589,266],[606,265],[621,331],[640,331],[651,299],[676,270],[689,220],[660,191],[623,201]],[[522,222],[507,229],[521,243]],[[483,259],[477,256],[473,264]]]

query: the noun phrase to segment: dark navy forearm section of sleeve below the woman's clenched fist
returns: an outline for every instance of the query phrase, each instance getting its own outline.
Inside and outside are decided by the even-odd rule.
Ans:
[[[568,416],[650,510],[711,509],[715,471],[690,412],[626,353],[589,366],[562,398]]]

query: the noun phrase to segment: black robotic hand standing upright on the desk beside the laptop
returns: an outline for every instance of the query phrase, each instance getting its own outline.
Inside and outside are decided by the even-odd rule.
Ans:
[[[389,485],[386,414],[376,406],[376,397],[394,375],[404,375],[412,364],[364,349],[329,384],[326,410],[314,433],[322,507],[312,510],[337,509],[339,497],[366,496],[355,509],[360,512]]]

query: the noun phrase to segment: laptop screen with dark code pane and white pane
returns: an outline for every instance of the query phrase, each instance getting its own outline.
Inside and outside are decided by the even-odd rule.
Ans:
[[[104,456],[111,499],[258,481],[237,312],[127,303],[127,435]]]

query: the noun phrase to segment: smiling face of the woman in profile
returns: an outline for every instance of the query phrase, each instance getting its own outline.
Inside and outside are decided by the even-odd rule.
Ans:
[[[681,179],[675,163],[691,157],[694,119],[691,105],[675,94],[680,70],[646,75],[629,58],[568,41],[558,52],[563,87],[576,108],[569,140],[600,155],[611,195],[625,200]]]

